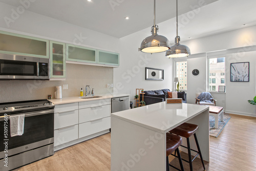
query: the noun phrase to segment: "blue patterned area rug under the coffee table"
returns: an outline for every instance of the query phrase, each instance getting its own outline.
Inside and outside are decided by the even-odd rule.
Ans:
[[[224,129],[224,126],[227,124],[231,116],[224,115],[223,121],[221,121],[221,116],[219,116],[219,129],[215,129],[215,117],[214,116],[209,116],[209,121],[210,121],[210,136],[211,137],[218,137],[221,133],[221,131]]]

